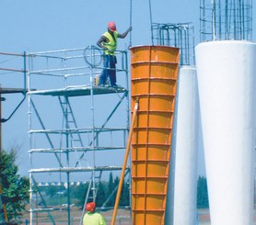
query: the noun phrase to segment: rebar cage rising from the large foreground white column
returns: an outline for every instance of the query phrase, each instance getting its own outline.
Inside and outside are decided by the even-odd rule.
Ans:
[[[252,0],[200,0],[201,41],[252,39]]]

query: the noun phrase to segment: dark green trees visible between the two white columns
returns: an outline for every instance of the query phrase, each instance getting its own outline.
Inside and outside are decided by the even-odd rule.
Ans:
[[[197,181],[197,208],[209,208],[207,181],[199,176]]]

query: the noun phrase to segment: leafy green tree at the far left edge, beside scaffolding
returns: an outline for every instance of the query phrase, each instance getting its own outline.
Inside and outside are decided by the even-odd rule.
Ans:
[[[0,174],[8,220],[17,219],[29,203],[29,178],[17,174],[17,152],[1,151]]]

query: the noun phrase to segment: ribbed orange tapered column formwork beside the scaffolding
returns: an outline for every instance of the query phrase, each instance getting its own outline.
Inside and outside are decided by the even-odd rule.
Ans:
[[[164,224],[179,49],[131,49],[132,108],[139,100],[132,139],[133,225]],[[133,113],[133,112],[132,112]]]

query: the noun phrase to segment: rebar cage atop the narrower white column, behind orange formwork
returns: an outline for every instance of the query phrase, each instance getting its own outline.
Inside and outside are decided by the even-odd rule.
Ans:
[[[194,28],[192,23],[153,23],[157,45],[180,48],[180,65],[194,65]]]

